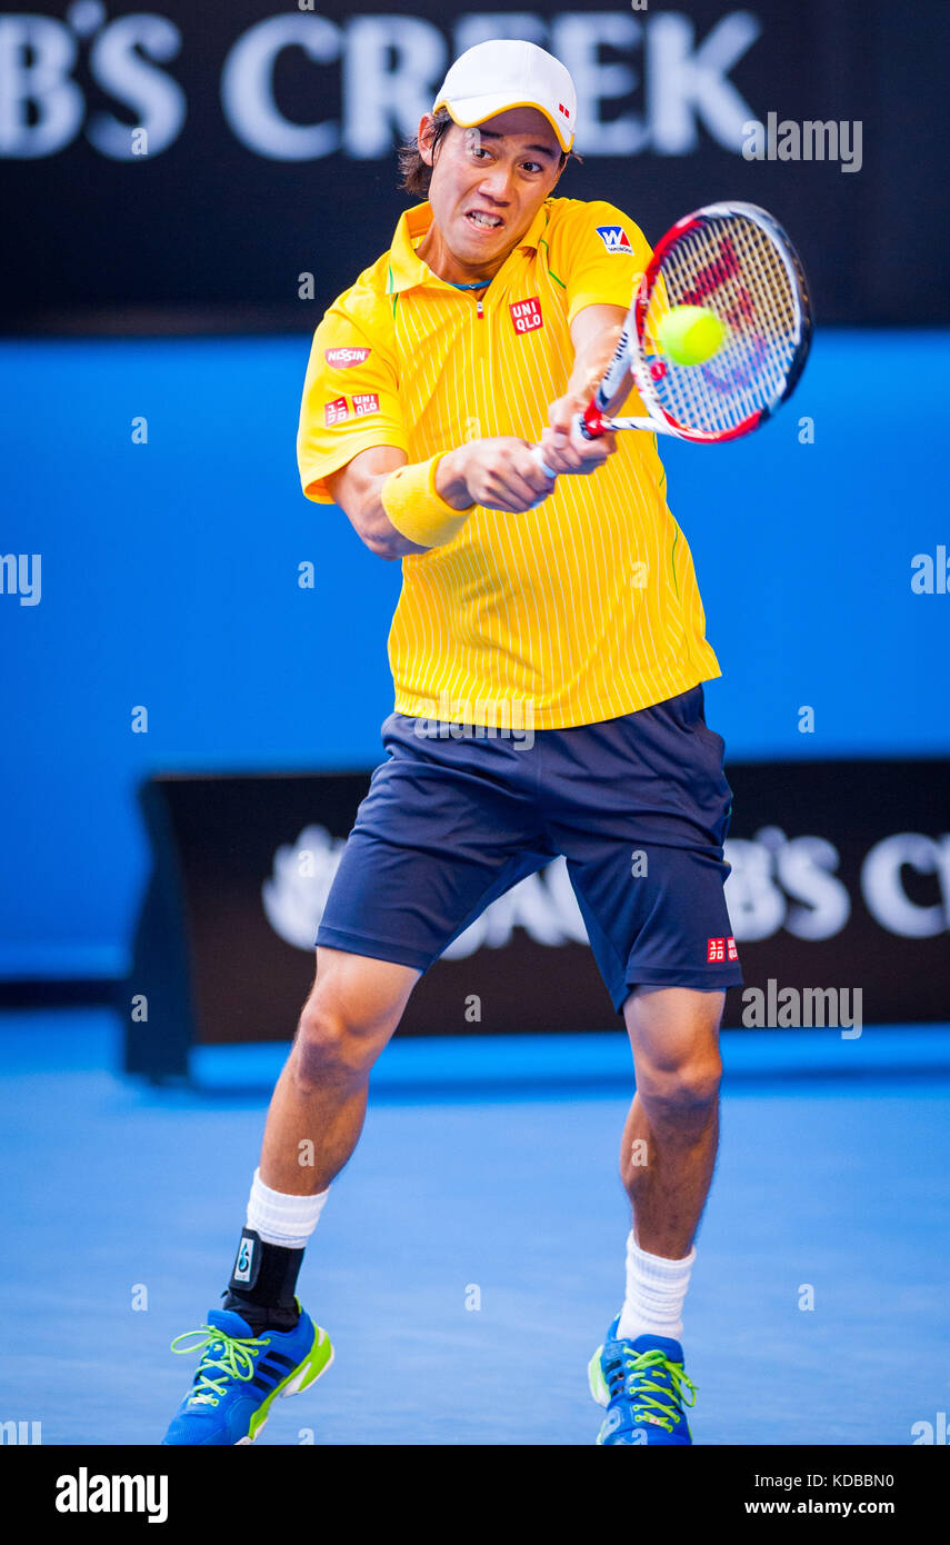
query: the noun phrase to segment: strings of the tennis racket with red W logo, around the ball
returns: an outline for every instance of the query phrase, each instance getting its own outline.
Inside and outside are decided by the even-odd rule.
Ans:
[[[675,306],[703,306],[724,323],[724,341],[707,363],[677,365],[657,341],[660,318]],[[800,338],[794,275],[754,219],[706,216],[664,255],[647,306],[644,352],[653,392],[680,425],[721,434],[774,408]]]

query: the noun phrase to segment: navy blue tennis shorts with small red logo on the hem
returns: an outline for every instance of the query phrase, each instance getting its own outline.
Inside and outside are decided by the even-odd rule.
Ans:
[[[732,791],[701,686],[533,737],[436,729],[406,714],[383,722],[388,757],[358,808],[318,946],[425,972],[491,901],[564,854],[618,1014],[640,983],[741,983],[723,896]]]

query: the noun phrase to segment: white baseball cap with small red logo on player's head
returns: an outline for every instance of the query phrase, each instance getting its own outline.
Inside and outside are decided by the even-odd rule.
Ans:
[[[536,43],[496,37],[468,48],[446,74],[433,113],[446,108],[456,124],[471,128],[511,107],[536,107],[555,130],[561,148],[570,150],[578,93],[561,60]]]

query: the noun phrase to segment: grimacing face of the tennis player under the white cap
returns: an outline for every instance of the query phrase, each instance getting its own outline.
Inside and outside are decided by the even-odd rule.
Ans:
[[[476,128],[450,125],[436,151],[433,230],[420,255],[448,280],[497,270],[555,187],[559,161],[556,134],[533,107],[510,108]]]

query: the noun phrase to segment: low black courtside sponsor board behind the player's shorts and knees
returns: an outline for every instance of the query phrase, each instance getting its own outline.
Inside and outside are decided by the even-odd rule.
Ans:
[[[945,1020],[950,762],[751,763],[729,780],[728,899],[746,987],[729,993],[724,1023],[840,1023],[854,1035],[863,1023]],[[181,1072],[192,1041],[290,1038],[368,783],[293,774],[144,786],[154,871],[122,993],[130,1071]],[[400,1034],[613,1026],[558,859],[450,946]]]

